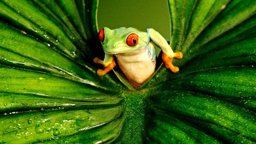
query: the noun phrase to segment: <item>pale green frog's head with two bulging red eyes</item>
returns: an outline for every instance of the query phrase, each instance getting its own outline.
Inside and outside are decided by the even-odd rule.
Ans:
[[[124,27],[113,30],[104,27],[99,30],[98,37],[108,54],[135,51],[146,46],[148,40],[147,33]]]

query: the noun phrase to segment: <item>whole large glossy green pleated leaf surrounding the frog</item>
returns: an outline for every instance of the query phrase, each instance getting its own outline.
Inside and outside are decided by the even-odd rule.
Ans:
[[[97,0],[1,0],[0,143],[256,143],[256,2],[168,6],[180,71],[135,90],[96,74]]]

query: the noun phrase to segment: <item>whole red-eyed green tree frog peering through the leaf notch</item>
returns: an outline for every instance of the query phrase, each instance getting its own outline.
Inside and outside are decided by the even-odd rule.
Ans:
[[[172,60],[182,59],[182,52],[173,52],[166,39],[152,28],[143,32],[132,27],[112,30],[104,27],[99,30],[98,38],[105,53],[104,60],[98,57],[93,59],[94,63],[104,66],[104,69],[97,70],[99,76],[113,70],[117,62],[131,86],[135,89],[140,88],[155,72],[154,45],[163,51],[165,67],[174,73],[179,71],[179,67],[174,66]]]

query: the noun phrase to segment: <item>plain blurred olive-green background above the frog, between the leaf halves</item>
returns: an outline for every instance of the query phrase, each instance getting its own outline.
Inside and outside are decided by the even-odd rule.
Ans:
[[[98,27],[134,27],[145,32],[153,28],[165,39],[169,39],[170,15],[167,1],[99,0]]]

